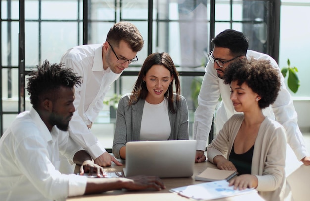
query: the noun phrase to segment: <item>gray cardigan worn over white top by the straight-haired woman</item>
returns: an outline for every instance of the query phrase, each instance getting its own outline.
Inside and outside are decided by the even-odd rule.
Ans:
[[[139,99],[134,105],[128,105],[131,94],[122,96],[118,103],[116,126],[113,141],[113,154],[120,158],[119,150],[129,141],[140,140],[140,128],[145,100]],[[174,95],[174,100],[176,95]],[[174,103],[175,104],[175,103]],[[171,134],[168,140],[188,140],[188,107],[186,100],[180,96],[179,108],[175,114],[168,109]]]

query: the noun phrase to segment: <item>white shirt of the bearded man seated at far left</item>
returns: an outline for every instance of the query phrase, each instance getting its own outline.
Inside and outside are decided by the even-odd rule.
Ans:
[[[72,159],[81,150],[68,132],[49,132],[31,108],[17,116],[0,140],[0,201],[65,200],[83,195],[86,177],[58,171],[59,151]]]

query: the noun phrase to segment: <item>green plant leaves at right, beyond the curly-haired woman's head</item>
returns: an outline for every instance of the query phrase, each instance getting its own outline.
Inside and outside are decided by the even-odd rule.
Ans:
[[[288,66],[283,67],[281,69],[281,73],[282,73],[284,78],[288,74],[287,86],[289,87],[289,89],[293,93],[296,93],[298,88],[299,88],[299,86],[300,86],[299,79],[298,79],[298,76],[297,76],[298,69],[295,66],[291,66],[291,62],[290,62],[289,59],[287,59],[287,65]]]

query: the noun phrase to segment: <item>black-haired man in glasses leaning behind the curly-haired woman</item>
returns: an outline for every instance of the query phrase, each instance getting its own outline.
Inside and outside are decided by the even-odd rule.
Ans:
[[[224,84],[223,75],[228,65],[238,59],[254,57],[271,61],[274,68],[279,69],[281,89],[276,101],[263,110],[265,116],[276,119],[287,132],[287,141],[298,160],[310,165],[310,156],[305,147],[302,133],[297,124],[297,113],[293,100],[286,89],[284,78],[280,73],[277,62],[269,55],[248,50],[248,38],[243,33],[227,29],[211,40],[213,51],[208,54],[209,62],[198,96],[198,108],[195,111],[194,139],[197,140],[195,162],[206,160],[204,155],[207,139],[211,130],[214,116],[216,133],[222,129],[224,123],[236,113],[230,100],[230,87]],[[222,101],[218,104],[219,97]],[[216,109],[216,106],[217,109]],[[216,110],[216,111],[215,111]],[[215,112],[215,115],[214,115]]]

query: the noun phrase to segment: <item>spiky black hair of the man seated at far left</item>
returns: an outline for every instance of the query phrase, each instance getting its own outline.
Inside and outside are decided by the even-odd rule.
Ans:
[[[51,64],[45,60],[38,70],[33,70],[27,78],[27,91],[30,95],[30,103],[38,108],[40,101],[46,98],[57,98],[56,91],[60,87],[73,88],[81,85],[81,76],[76,76],[71,68],[62,68],[62,64]]]

